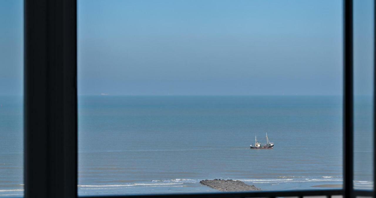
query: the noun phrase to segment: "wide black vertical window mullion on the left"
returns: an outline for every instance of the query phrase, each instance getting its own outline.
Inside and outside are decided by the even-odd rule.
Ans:
[[[24,1],[25,197],[77,196],[76,0]]]

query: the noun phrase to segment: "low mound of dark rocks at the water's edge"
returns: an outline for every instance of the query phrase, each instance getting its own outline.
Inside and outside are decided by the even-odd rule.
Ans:
[[[211,188],[224,191],[224,192],[236,192],[236,191],[253,191],[261,190],[256,188],[254,185],[245,184],[243,181],[239,180],[201,180],[200,184],[204,184]]]

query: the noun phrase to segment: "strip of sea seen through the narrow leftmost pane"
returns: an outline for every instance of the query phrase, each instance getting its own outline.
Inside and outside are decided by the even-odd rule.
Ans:
[[[0,197],[23,195],[23,98],[0,96]]]

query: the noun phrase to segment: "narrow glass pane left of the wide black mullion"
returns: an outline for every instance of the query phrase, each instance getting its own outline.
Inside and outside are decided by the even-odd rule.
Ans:
[[[0,1],[0,197],[23,195],[23,1]]]

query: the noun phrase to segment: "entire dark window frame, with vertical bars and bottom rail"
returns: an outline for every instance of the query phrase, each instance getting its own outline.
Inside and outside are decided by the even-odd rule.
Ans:
[[[375,1],[374,4],[376,4]],[[343,189],[100,197],[275,198],[298,196],[302,198],[302,196],[313,195],[327,197],[343,195],[346,198],[353,198],[374,196],[375,189],[373,191],[353,189],[352,4],[352,0],[343,0]],[[24,42],[25,197],[75,198],[77,197],[76,0],[24,0]],[[375,76],[374,67],[374,78]],[[375,86],[373,91],[375,93]],[[373,95],[373,104],[374,101]],[[373,108],[373,115],[375,115],[375,105]],[[373,116],[374,120],[375,116]],[[376,145],[375,127],[373,130],[373,141]],[[375,152],[373,155],[375,164]],[[375,176],[374,181],[376,181]]]

